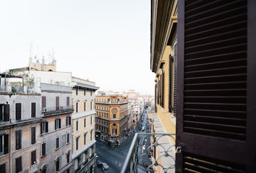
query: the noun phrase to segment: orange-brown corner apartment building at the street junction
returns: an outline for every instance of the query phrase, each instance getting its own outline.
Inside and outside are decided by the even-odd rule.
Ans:
[[[96,95],[96,137],[120,143],[128,135],[127,95]]]

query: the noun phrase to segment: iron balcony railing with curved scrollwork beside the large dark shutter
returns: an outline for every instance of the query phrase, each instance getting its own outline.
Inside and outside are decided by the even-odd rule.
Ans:
[[[175,134],[136,133],[121,172],[175,172],[175,153]]]

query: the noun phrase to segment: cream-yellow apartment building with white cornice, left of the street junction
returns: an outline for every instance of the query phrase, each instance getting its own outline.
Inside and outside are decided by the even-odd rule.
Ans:
[[[99,87],[88,80],[72,77],[72,172],[94,172],[95,91]]]

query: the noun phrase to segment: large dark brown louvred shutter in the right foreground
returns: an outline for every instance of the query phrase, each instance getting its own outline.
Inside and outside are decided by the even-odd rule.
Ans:
[[[255,16],[250,0],[178,1],[176,172],[255,171]]]

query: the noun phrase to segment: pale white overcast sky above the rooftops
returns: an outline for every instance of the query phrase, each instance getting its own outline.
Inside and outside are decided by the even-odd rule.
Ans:
[[[1,0],[0,22],[2,72],[54,53],[57,71],[99,90],[154,94],[150,1]]]

